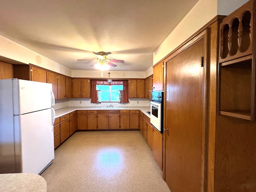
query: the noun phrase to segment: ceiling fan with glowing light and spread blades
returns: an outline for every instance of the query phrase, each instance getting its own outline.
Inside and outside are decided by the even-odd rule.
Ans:
[[[124,60],[116,60],[116,59],[108,59],[107,55],[111,54],[111,52],[104,52],[104,51],[100,51],[100,52],[93,52],[94,54],[96,54],[96,59],[78,59],[78,61],[97,61],[98,64],[100,65],[109,65],[111,67],[116,67],[117,65],[112,63],[112,62],[118,62],[118,63],[124,63]],[[92,66],[95,66],[95,64],[93,64]]]

